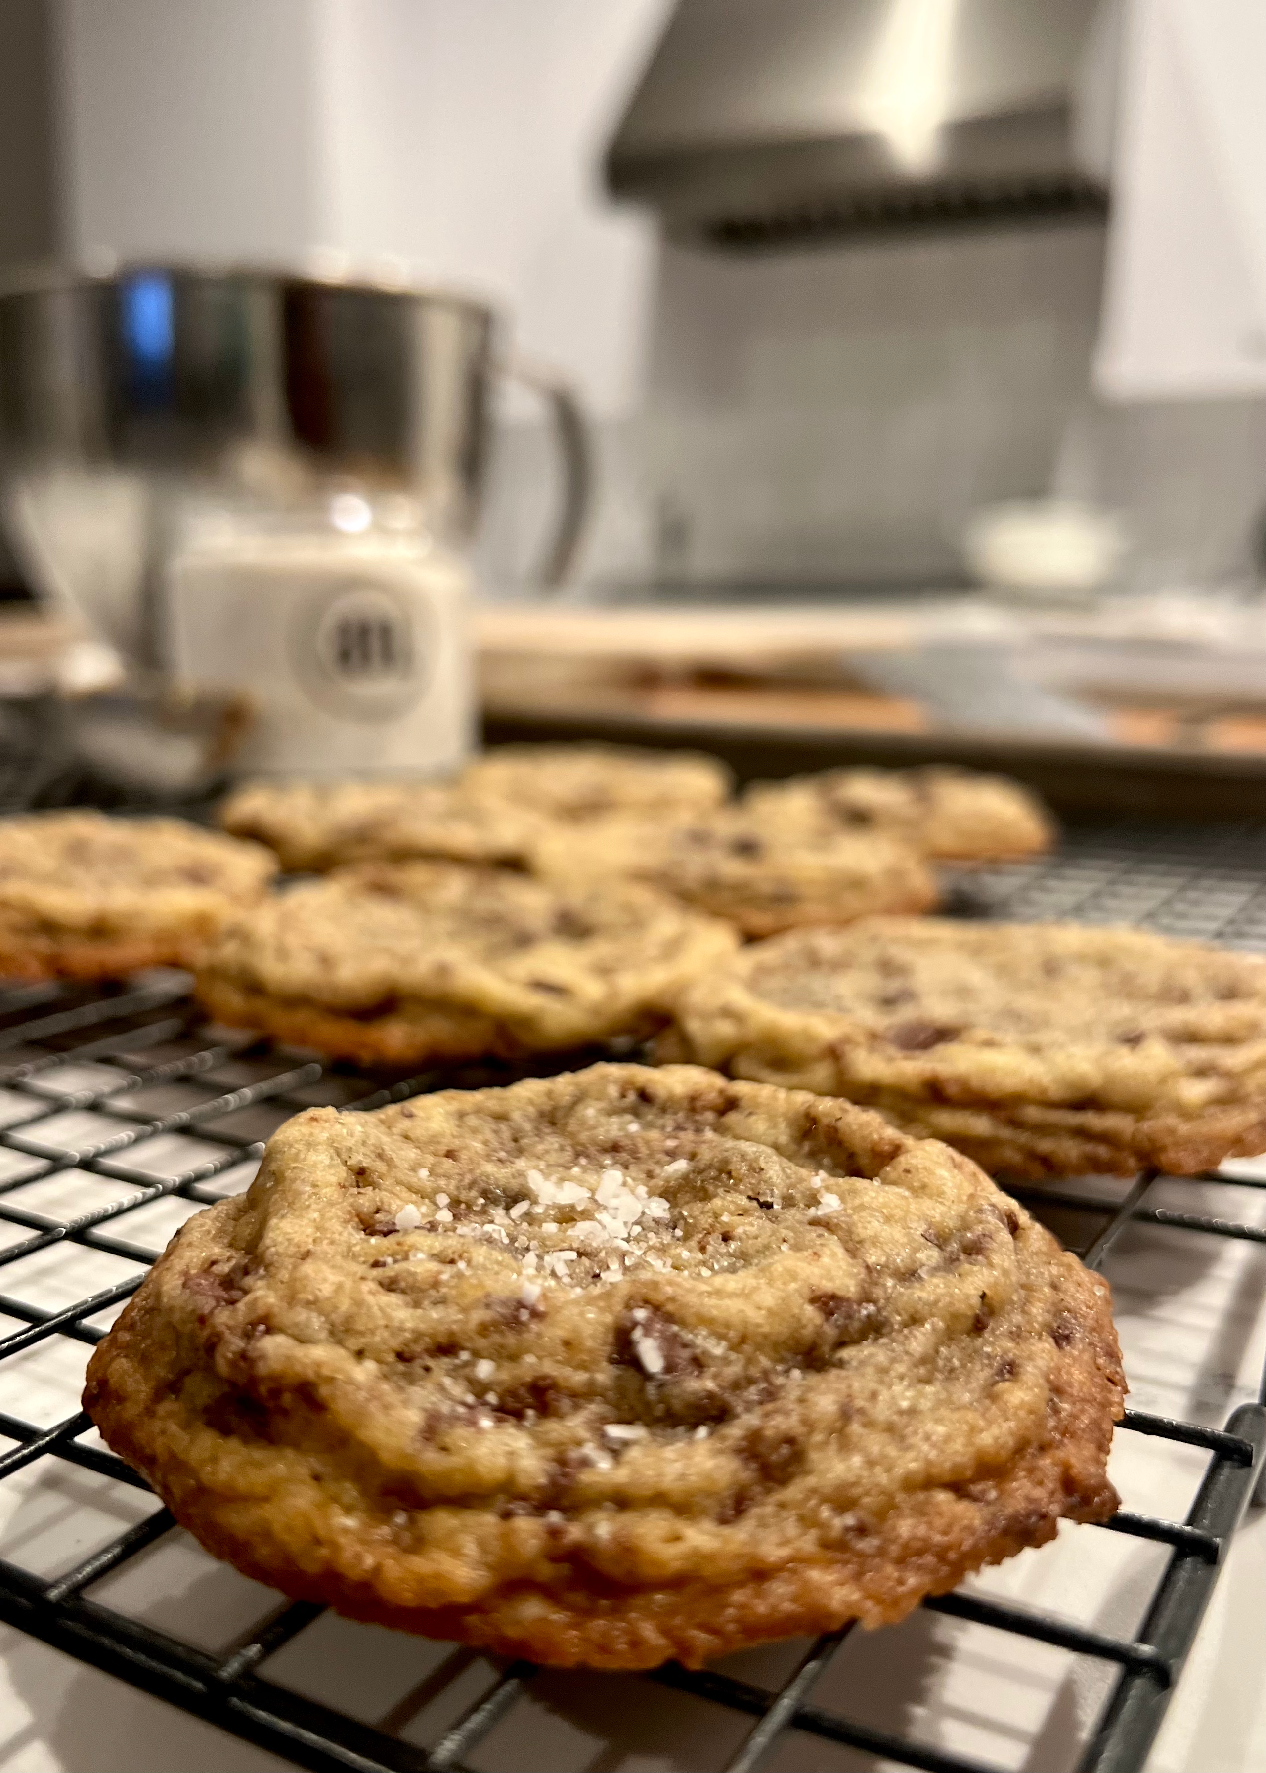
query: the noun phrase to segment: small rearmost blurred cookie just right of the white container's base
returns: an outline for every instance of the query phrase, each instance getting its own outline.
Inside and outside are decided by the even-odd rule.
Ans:
[[[466,764],[459,785],[550,819],[608,814],[690,817],[720,807],[731,773],[700,752],[619,745],[500,745]]]

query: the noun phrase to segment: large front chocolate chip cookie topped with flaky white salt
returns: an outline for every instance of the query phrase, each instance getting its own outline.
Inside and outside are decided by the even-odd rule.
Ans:
[[[1106,1519],[1108,1289],[945,1145],[695,1067],[316,1108],[85,1408],[207,1550],[543,1663],[699,1665]]]

